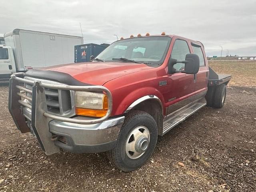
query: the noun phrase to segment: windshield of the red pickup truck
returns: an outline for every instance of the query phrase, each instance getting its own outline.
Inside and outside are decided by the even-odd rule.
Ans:
[[[96,58],[104,61],[113,61],[116,58],[126,58],[136,62],[159,66],[164,61],[170,45],[170,40],[170,37],[125,39],[112,43]],[[125,62],[125,60],[123,61]]]

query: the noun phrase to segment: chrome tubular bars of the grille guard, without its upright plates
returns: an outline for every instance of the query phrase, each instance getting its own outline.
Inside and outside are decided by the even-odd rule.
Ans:
[[[58,90],[104,92],[108,96],[108,111],[107,111],[106,115],[101,117],[101,118],[94,118],[94,119],[90,119],[90,120],[81,120],[81,119],[67,118],[67,117],[51,114],[47,111],[43,112],[43,116],[51,118],[53,120],[58,120],[58,121],[63,121],[63,122],[70,122],[70,123],[77,123],[77,124],[96,124],[96,123],[103,122],[104,120],[106,120],[111,115],[111,112],[112,112],[112,94],[104,86],[70,86],[70,85],[48,84],[48,83],[40,82],[40,80],[39,81],[32,81],[32,80],[24,79],[24,73],[22,73],[22,72],[12,74],[11,78],[12,78],[12,80],[15,80],[19,83],[26,83],[26,84],[31,84],[32,86],[36,86],[36,90],[38,90],[40,88],[43,88],[43,89],[44,88],[52,88],[52,89],[58,89]],[[28,96],[22,94],[22,92],[29,92],[29,93],[32,94],[31,90],[23,88],[22,86],[19,86],[18,84],[15,84],[15,86],[18,90],[21,90],[21,92],[16,93],[18,96],[20,96],[20,98],[24,98],[24,99],[27,99],[27,100],[30,100],[30,101],[32,101],[32,99],[34,99],[34,98],[29,98]],[[43,96],[45,97],[44,91],[42,91],[42,92],[36,91],[36,95],[37,94],[43,94]],[[12,102],[12,101],[9,101],[9,102]],[[25,107],[28,107],[28,108],[31,109],[31,106],[28,103],[22,101],[21,99],[18,100],[18,102],[22,106],[25,106]]]

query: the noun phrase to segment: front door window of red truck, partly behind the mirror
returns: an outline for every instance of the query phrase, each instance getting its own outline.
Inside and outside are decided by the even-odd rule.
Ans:
[[[171,58],[179,60],[179,61],[184,61],[186,58],[186,54],[189,54],[190,50],[188,48],[188,44],[184,40],[177,39],[174,42],[174,46],[172,48],[172,54]],[[174,69],[176,70],[184,70],[184,63],[176,63],[174,64]]]

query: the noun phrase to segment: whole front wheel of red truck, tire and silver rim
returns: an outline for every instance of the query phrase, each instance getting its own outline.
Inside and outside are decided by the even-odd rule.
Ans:
[[[158,136],[154,118],[143,111],[130,112],[118,134],[114,148],[107,156],[118,169],[132,171],[142,166],[151,156]]]

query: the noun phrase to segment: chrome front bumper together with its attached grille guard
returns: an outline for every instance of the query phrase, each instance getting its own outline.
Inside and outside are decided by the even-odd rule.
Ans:
[[[60,148],[75,153],[103,152],[113,148],[124,116],[109,118],[112,112],[112,95],[107,88],[48,84],[43,80],[41,82],[20,78],[19,75],[24,76],[23,73],[18,73],[10,79],[10,114],[22,133],[31,131],[36,136],[47,155],[59,152]],[[31,84],[32,90],[22,87],[20,83]],[[105,92],[109,98],[108,112],[102,118],[67,118],[51,114],[47,109],[45,88]],[[32,97],[28,97],[26,92]]]

